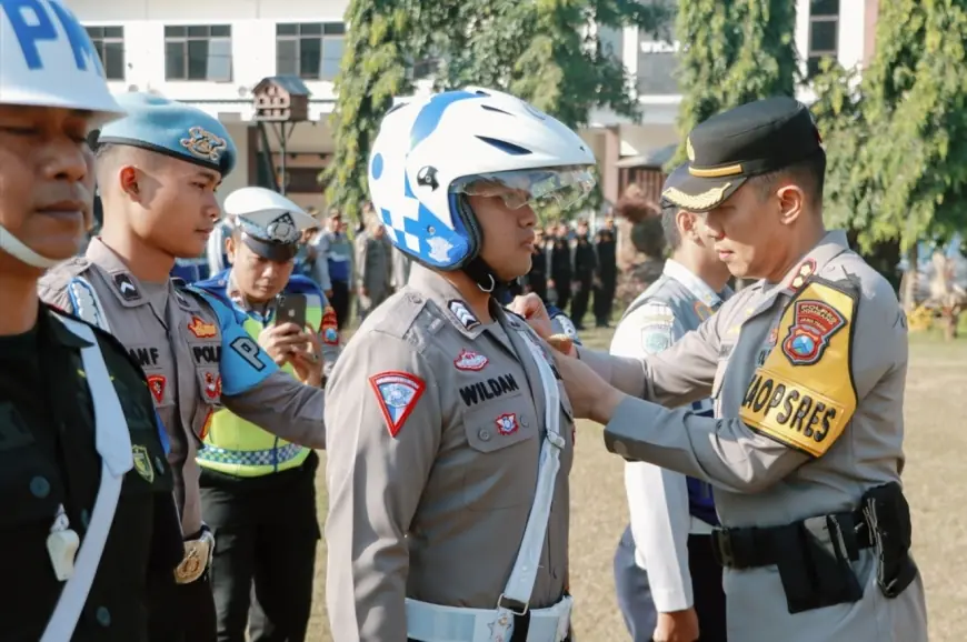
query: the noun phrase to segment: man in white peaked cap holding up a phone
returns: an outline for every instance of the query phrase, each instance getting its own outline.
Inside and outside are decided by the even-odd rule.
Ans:
[[[230,193],[225,211],[235,221],[232,268],[198,287],[245,314],[246,330],[280,368],[321,388],[323,364],[328,372],[339,354],[336,312],[311,279],[292,274],[299,237],[316,220],[255,187]],[[319,457],[222,409],[198,464],[202,514],[219,543],[211,561],[219,640],[245,642],[247,629],[252,642],[305,640],[321,535]]]

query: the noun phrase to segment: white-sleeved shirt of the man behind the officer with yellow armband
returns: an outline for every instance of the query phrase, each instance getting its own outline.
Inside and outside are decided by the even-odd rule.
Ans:
[[[669,259],[661,278],[628,308],[615,330],[611,354],[657,354],[697,329],[730,295],[729,288],[719,295],[688,268]],[[712,413],[710,398],[695,401],[689,408],[696,413]],[[710,488],[701,486],[702,494],[710,496]],[[625,464],[625,490],[635,561],[648,573],[655,608],[661,613],[690,608],[694,594],[688,535],[710,533],[711,526],[689,513],[686,477],[649,462],[630,461]]]

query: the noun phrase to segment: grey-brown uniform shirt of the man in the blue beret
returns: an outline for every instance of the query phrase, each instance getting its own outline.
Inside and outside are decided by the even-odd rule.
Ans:
[[[222,395],[219,319],[202,297],[169,281],[167,305],[157,309],[159,301],[142,295],[144,288],[100,239],[91,241],[84,257],[52,268],[39,285],[41,299],[86,318],[84,310],[73,310],[68,293],[74,277],[94,289],[110,332],[148,377],[154,408],[171,442],[168,461],[187,536],[201,528],[195,455],[216,410],[228,407],[287,441],[325,448],[322,390],[275,372],[242,394]]]

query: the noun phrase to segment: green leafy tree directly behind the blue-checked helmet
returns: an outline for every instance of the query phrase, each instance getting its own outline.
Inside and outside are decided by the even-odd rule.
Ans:
[[[336,154],[322,174],[329,202],[358,215],[369,148],[393,97],[412,91],[411,61],[442,60],[437,89],[507,90],[570,127],[586,124],[596,107],[636,118],[621,52],[588,26],[656,29],[665,16],[635,0],[351,0],[331,121]]]

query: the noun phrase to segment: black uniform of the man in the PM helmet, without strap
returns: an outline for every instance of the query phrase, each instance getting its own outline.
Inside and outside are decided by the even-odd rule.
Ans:
[[[128,420],[134,467],[124,475],[71,640],[142,642],[149,639],[151,594],[175,585],[181,529],[144,375],[113,337],[93,332]],[[93,512],[101,457],[81,361],[88,345],[47,305],[33,330],[0,337],[0,576],[9,582],[0,600],[4,642],[40,640],[64,586],[54,575],[48,538],[72,530],[83,545]]]

